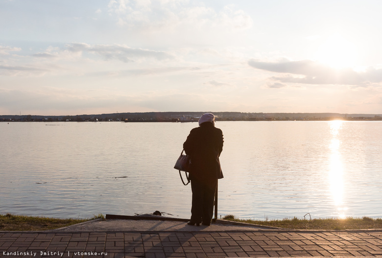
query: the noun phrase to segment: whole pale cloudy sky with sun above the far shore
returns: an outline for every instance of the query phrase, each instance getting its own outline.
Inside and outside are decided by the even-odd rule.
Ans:
[[[0,115],[382,114],[380,0],[0,0]]]

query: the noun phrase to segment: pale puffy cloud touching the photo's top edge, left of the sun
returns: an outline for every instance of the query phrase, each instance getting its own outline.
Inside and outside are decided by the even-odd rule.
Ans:
[[[194,28],[224,27],[247,29],[253,24],[251,17],[235,5],[227,5],[220,11],[202,3],[189,0],[110,0],[109,13],[118,24],[131,28],[175,28],[192,25]]]

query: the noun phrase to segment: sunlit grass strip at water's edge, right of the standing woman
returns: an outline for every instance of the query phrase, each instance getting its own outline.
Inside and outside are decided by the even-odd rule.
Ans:
[[[318,218],[318,219],[299,219],[285,218],[277,220],[252,220],[239,219],[234,215],[226,215],[225,220],[251,223],[263,226],[284,228],[284,229],[302,229],[302,230],[357,230],[357,229],[382,229],[382,219],[373,219],[370,217],[353,218]]]

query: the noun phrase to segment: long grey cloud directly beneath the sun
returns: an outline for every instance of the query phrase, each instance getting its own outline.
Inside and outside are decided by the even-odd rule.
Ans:
[[[256,69],[284,73],[283,76],[272,77],[273,80],[284,83],[367,86],[382,82],[382,69],[369,68],[357,72],[350,68],[334,69],[311,60],[261,62],[252,59],[248,64]]]

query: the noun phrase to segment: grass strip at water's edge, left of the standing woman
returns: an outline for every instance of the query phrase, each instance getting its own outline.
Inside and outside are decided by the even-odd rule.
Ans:
[[[73,224],[89,221],[96,218],[105,218],[103,214],[94,215],[88,219],[58,219],[48,217],[23,216],[13,214],[0,214],[0,231],[44,231],[67,227]]]

